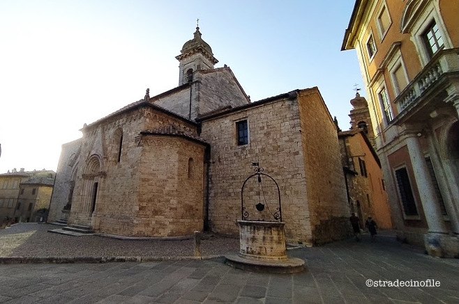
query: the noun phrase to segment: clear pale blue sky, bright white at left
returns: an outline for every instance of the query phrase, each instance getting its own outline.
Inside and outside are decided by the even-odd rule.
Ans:
[[[0,173],[57,170],[61,145],[123,106],[179,84],[183,43],[202,38],[252,101],[317,86],[349,129],[354,0],[0,1]],[[362,90],[363,91],[363,90]],[[361,91],[361,93],[362,93]]]

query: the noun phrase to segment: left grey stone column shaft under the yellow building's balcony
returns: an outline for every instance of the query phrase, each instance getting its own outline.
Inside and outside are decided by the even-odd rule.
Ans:
[[[421,150],[421,145],[416,134],[409,134],[405,139],[407,143],[409,158],[413,166],[414,177],[417,189],[421,197],[421,204],[424,209],[424,216],[429,227],[429,233],[448,234],[444,225],[442,211],[435,194],[435,189],[430,179],[430,173]]]

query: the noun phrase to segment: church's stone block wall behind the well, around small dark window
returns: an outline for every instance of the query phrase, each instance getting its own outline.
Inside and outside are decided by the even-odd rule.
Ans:
[[[248,120],[249,143],[238,146],[235,122],[243,119]],[[201,136],[211,144],[211,230],[239,234],[236,221],[241,219],[241,187],[246,178],[254,173],[251,162],[259,161],[259,165],[265,169],[264,173],[271,175],[280,186],[287,240],[310,243],[312,235],[299,111],[295,98],[254,104],[248,109],[204,120]],[[263,180],[266,181],[266,178],[263,177]],[[254,205],[257,195],[252,194],[252,202],[248,198],[245,205],[251,208],[248,210],[250,214],[256,214]],[[278,202],[270,200],[268,203],[273,211]]]

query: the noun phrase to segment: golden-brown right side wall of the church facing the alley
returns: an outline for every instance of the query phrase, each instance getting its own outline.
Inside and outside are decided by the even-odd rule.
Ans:
[[[317,88],[299,93],[301,142],[312,243],[349,235],[349,206],[338,134]]]

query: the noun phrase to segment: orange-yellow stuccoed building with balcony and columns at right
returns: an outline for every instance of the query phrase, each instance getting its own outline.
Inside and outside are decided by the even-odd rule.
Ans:
[[[459,255],[459,2],[357,0],[359,58],[400,239]]]

